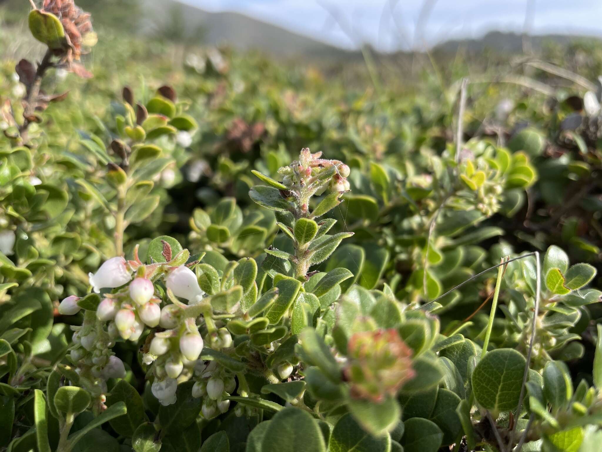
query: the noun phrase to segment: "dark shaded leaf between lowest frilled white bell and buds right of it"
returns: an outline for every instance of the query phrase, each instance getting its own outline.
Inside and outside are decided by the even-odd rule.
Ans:
[[[199,415],[202,398],[192,397],[194,381],[185,381],[176,389],[176,403],[159,408],[161,427],[168,433],[177,433],[194,422]]]

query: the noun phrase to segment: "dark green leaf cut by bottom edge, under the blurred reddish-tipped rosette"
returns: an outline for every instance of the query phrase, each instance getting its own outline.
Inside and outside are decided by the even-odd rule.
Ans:
[[[388,452],[389,435],[373,436],[355,421],[352,415],[341,417],[330,435],[329,452]]]

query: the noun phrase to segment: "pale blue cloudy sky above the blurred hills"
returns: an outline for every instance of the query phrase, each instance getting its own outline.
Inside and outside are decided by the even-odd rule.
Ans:
[[[532,15],[527,28],[534,34],[602,36],[602,0],[181,1],[208,11],[236,11],[350,49],[368,42],[391,51],[454,37],[477,37],[491,29],[520,32],[528,2]],[[432,7],[420,19],[425,3]],[[417,24],[423,24],[418,31]]]

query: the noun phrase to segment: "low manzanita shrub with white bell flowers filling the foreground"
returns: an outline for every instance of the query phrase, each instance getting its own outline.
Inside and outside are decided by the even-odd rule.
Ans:
[[[0,105],[0,450],[599,450],[602,292],[579,262],[599,250],[577,234],[598,217],[497,237],[595,178],[600,93],[550,137],[579,149],[560,163],[533,128],[434,151],[412,134],[439,119],[396,136],[350,110],[343,134],[340,111],[274,93],[272,123],[226,129],[169,85],[123,87],[74,136],[75,93],[46,80],[92,77],[90,14],[33,7],[44,56]],[[215,49],[187,64],[203,89],[228,74]],[[217,123],[241,108],[220,86]],[[210,127],[217,158],[195,154]],[[334,155],[293,157],[291,130]]]

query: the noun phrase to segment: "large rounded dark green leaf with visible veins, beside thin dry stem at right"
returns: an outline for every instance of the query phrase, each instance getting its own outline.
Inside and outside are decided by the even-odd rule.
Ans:
[[[518,405],[526,359],[511,348],[492,350],[479,361],[472,375],[477,402],[492,413],[514,410]]]

